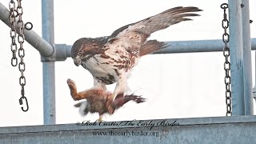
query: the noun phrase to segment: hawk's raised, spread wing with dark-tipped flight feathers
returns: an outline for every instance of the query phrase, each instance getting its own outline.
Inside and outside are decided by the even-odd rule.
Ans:
[[[126,49],[139,49],[140,46],[146,42],[146,38],[150,37],[150,34],[158,30],[166,29],[168,26],[178,22],[191,20],[186,17],[198,16],[198,14],[191,13],[197,11],[201,10],[192,6],[174,7],[150,18],[143,19],[142,21],[122,26],[110,35],[109,42],[124,43],[128,45]]]

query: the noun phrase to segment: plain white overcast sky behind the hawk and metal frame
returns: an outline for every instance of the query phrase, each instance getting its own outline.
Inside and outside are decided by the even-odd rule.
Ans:
[[[182,41],[222,38],[223,0],[74,0],[54,1],[55,43],[72,45],[78,38],[110,35],[114,30],[143,18],[158,14],[174,6],[198,6],[204,10],[201,17],[182,22],[166,30],[154,33],[150,39]],[[9,0],[1,0],[8,7]],[[42,35],[41,1],[22,1],[23,20],[33,23],[33,30]],[[250,1],[251,37],[256,38],[256,6]],[[0,22],[0,126],[24,126],[43,124],[42,62],[40,54],[29,43],[26,49],[26,97],[30,110],[22,112],[18,99],[18,67],[10,65],[10,28]],[[254,81],[254,52],[253,81]],[[159,118],[194,118],[224,116],[226,114],[225,85],[222,52],[193,54],[154,54],[140,60],[129,79],[129,86],[147,101],[142,104],[129,102],[106,115],[103,120],[134,120]],[[74,66],[71,58],[55,62],[56,121],[74,123],[94,121],[98,114],[82,117],[74,108],[66,79],[77,83],[78,90],[89,89],[93,79],[81,66]],[[113,90],[114,86],[110,86]]]

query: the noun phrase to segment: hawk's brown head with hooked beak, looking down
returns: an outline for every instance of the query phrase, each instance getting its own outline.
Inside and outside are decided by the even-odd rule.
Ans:
[[[90,59],[95,54],[103,53],[102,47],[106,44],[107,38],[80,38],[71,49],[71,57],[75,66],[81,65],[82,62]]]

